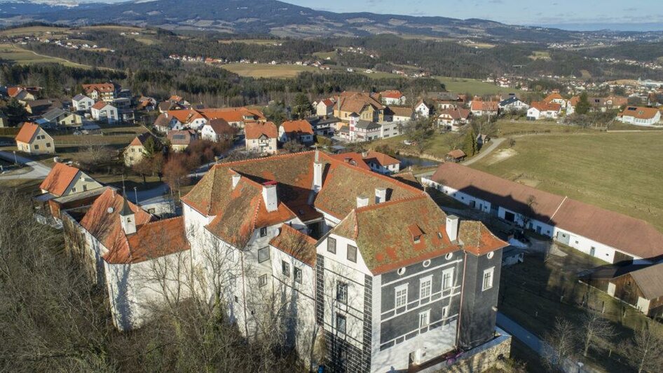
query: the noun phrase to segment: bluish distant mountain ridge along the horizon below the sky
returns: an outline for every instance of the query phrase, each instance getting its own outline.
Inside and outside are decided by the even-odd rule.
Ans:
[[[478,19],[458,20],[437,16],[367,12],[334,13],[316,11],[278,0],[133,0],[114,4],[81,3],[76,8],[13,1],[0,2],[0,18],[5,25],[30,21],[69,25],[116,22],[165,29],[269,33],[296,38],[387,33],[449,39],[547,43],[583,39],[591,34],[505,25]],[[602,35],[606,33],[611,32],[601,32]]]

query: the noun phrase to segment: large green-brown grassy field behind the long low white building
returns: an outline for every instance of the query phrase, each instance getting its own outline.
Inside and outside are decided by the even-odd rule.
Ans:
[[[518,137],[472,165],[493,175],[644,219],[663,231],[663,133]]]

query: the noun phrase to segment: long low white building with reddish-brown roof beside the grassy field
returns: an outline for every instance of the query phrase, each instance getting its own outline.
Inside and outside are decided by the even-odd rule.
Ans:
[[[443,163],[422,183],[604,262],[646,263],[663,257],[663,234],[641,219],[455,163]]]

